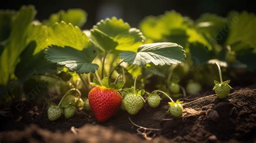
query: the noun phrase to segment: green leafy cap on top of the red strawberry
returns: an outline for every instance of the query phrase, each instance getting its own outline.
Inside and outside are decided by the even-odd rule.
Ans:
[[[93,78],[93,83],[90,83],[90,84],[92,86],[109,88],[117,91],[121,90],[124,86],[124,82],[122,80],[117,81],[117,83],[111,83],[108,77],[103,78],[102,81],[99,81],[97,78]]]

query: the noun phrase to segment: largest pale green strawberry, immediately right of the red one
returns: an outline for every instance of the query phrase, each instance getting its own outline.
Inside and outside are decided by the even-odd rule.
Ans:
[[[139,94],[127,94],[123,102],[126,111],[132,115],[137,114],[144,106],[144,100]]]

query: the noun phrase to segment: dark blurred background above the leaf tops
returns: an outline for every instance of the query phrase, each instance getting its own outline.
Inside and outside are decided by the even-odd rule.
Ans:
[[[226,16],[231,10],[254,12],[254,1],[238,0],[72,0],[72,1],[8,1],[9,4],[1,4],[0,9],[18,10],[21,5],[33,4],[38,13],[36,18],[42,21],[48,19],[51,13],[70,8],[81,8],[88,13],[87,22],[84,29],[91,29],[100,19],[116,16],[123,18],[131,26],[137,27],[139,21],[145,16],[160,15],[166,10],[176,10],[183,16],[198,18],[202,13],[216,13]]]

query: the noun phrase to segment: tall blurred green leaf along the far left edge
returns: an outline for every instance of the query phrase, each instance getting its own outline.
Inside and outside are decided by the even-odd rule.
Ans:
[[[19,55],[25,49],[26,30],[29,23],[36,15],[36,10],[33,6],[22,6],[15,13],[11,21],[11,32],[9,42],[5,46],[0,60],[0,84],[6,85],[9,79],[14,79],[15,66],[19,62]]]

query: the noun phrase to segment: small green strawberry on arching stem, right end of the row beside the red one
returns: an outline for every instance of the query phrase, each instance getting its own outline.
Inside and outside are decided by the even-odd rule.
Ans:
[[[182,115],[182,111],[183,111],[183,106],[181,105],[182,102],[179,102],[178,100],[176,101],[176,103],[174,103],[174,101],[169,102],[169,112],[171,113],[171,115],[175,118],[178,118]]]

